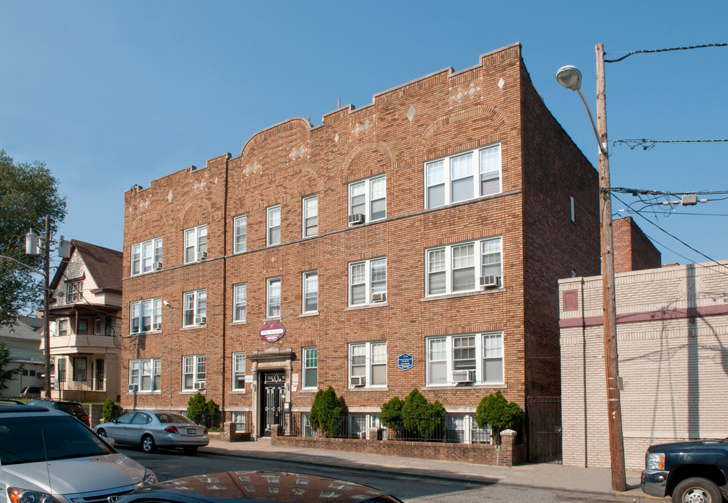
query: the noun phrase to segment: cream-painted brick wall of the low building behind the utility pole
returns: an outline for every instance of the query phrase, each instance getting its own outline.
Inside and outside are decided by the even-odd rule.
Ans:
[[[617,315],[654,316],[617,324],[628,469],[642,468],[646,448],[655,443],[725,437],[715,405],[727,396],[728,315],[676,311],[726,307],[728,262],[722,263],[617,275]],[[601,315],[601,278],[562,280],[559,286],[579,292],[579,311],[562,311],[562,317]],[[601,325],[561,330],[563,464],[609,467],[603,334]]]

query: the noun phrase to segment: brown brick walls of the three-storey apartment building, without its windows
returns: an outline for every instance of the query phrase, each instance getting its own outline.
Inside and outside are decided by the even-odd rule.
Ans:
[[[499,192],[426,208],[424,163],[490,145],[500,148]],[[349,184],[380,175],[386,218],[347,225]],[[226,411],[252,410],[260,432],[264,371],[285,373],[285,410],[310,407],[316,389],[301,389],[301,348],[310,346],[317,387],[333,386],[350,411],[376,413],[414,388],[453,413],[472,413],[496,389],[524,407],[529,395],[558,395],[557,280],[572,270],[598,273],[597,187],[596,171],[531,85],[518,44],[481,56],[471,69],[379,93],[362,109],[342,107],[322,125],[282,122],[253,136],[239,157],[134,187],[125,194],[124,333],[131,303],[161,297],[170,308],[162,308],[161,330],[124,338],[122,383],[135,359],[159,359],[161,378],[151,392],[122,386],[122,405],[186,408],[194,391],[181,391],[182,358],[205,355],[207,399]],[[302,238],[302,200],[314,194],[317,235]],[[266,208],[276,205],[280,244],[266,246]],[[234,218],[242,214],[247,246],[235,254]],[[207,225],[207,259],[185,265],[183,233],[198,225]],[[132,276],[132,245],[154,238],[163,240],[161,270]],[[499,286],[427,295],[426,250],[475,242],[480,270],[483,238],[502,240]],[[349,264],[381,257],[386,301],[352,307]],[[302,274],[312,270],[318,311],[302,314]],[[275,321],[285,327],[275,343],[260,336],[269,278],[280,278]],[[233,322],[233,287],[242,283],[246,321]],[[207,292],[206,323],[183,328],[183,293],[199,289]],[[480,344],[480,334],[491,333],[502,334],[502,383],[427,385],[427,338],[477,334]],[[349,386],[349,344],[363,341],[386,341],[386,386]],[[244,391],[232,390],[237,352],[245,353]],[[397,367],[401,354],[412,355],[411,369]]]

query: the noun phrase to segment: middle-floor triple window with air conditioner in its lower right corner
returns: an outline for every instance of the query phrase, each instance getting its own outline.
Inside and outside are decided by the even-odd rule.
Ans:
[[[480,285],[501,284],[501,238],[439,246],[425,251],[427,295],[472,292]],[[476,267],[478,253],[480,267]]]

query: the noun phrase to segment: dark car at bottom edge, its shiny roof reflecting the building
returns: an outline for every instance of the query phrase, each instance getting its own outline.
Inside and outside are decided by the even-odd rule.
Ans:
[[[378,489],[318,475],[221,472],[139,488],[114,503],[402,503]]]

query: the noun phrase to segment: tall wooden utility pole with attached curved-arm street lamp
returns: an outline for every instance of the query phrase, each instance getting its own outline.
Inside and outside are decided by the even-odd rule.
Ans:
[[[625,442],[622,435],[622,405],[617,361],[617,303],[614,295],[614,236],[612,235],[612,195],[609,182],[609,155],[606,149],[606,90],[604,82],[604,44],[596,44],[597,125],[581,91],[582,74],[576,66],[562,66],[556,72],[559,84],[577,91],[589,114],[599,145],[599,211],[601,222],[601,295],[604,316],[604,374],[609,411],[609,454],[612,464],[612,489],[625,491]]]

